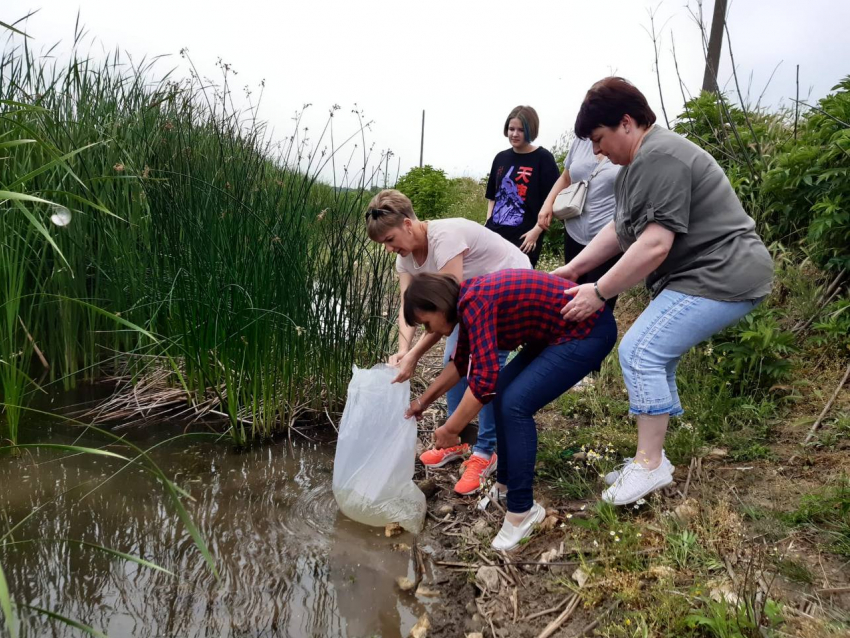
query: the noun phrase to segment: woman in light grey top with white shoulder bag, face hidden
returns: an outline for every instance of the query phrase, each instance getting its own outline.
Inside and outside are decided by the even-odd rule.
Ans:
[[[572,261],[614,218],[614,181],[620,167],[593,153],[590,140],[576,138],[564,160],[564,172],[555,182],[537,216],[542,233],[553,217],[564,222],[564,263]],[[617,263],[619,255],[584,273],[577,283],[597,281]],[[607,302],[613,310],[617,297]]]

